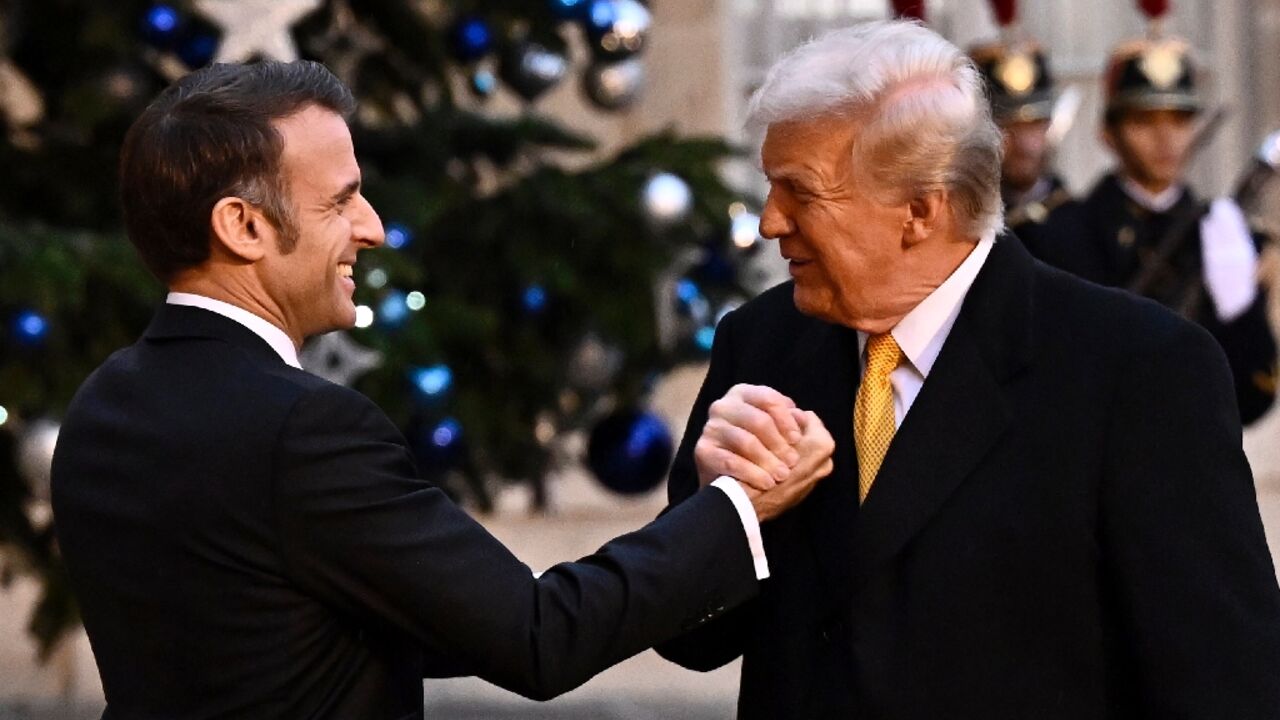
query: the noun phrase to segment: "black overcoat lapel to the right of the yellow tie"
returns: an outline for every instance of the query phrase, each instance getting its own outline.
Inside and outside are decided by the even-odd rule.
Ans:
[[[970,287],[859,511],[859,584],[925,527],[1009,427],[1004,386],[1030,359],[1033,268],[1020,243],[1000,241]]]

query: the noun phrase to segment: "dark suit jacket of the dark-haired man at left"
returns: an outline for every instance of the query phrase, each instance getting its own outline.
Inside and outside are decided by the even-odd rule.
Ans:
[[[754,594],[698,493],[535,580],[362,395],[165,306],[72,402],[59,541],[106,717],[420,717],[422,676],[550,697]]]

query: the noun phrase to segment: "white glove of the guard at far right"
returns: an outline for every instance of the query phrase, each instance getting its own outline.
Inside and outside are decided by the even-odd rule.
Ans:
[[[1204,287],[1224,323],[1244,314],[1258,296],[1258,251],[1249,223],[1230,197],[1219,197],[1201,218]]]

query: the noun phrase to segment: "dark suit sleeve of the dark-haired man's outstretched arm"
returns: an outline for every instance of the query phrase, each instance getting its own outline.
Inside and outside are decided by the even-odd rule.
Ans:
[[[275,466],[291,579],[527,697],[572,689],[756,591],[741,521],[716,489],[535,579],[419,478],[372,402],[338,386],[298,400]]]

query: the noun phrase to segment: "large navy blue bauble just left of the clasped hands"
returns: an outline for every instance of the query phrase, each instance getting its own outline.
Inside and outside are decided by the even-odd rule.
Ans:
[[[667,424],[653,413],[621,410],[591,430],[586,462],[604,487],[643,495],[667,477],[675,445]]]

